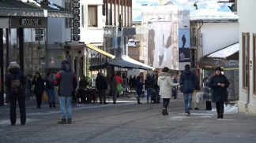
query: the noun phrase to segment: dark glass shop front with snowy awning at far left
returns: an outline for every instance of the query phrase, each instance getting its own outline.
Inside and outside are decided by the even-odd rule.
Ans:
[[[26,76],[45,72],[47,17],[73,16],[66,9],[56,7],[58,9],[29,2],[0,1],[0,105],[4,105],[4,77],[9,62],[17,61]]]

